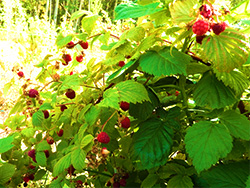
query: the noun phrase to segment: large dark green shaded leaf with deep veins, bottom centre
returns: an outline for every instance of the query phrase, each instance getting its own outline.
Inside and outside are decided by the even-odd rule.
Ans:
[[[140,123],[133,135],[131,158],[139,170],[151,169],[166,163],[173,144],[173,130],[159,119]]]

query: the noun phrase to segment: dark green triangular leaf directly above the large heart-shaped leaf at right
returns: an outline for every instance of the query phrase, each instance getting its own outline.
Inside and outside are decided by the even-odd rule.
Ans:
[[[224,108],[236,102],[234,92],[219,81],[212,72],[204,73],[194,90],[194,101],[198,106]]]

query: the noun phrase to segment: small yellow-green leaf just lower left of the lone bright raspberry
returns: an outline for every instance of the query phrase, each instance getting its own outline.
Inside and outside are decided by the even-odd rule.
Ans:
[[[76,149],[71,154],[71,163],[76,170],[82,170],[85,164],[86,153],[82,149]]]

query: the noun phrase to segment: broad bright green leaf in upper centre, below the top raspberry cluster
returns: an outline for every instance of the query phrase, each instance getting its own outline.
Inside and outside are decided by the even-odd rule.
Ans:
[[[191,57],[173,49],[170,53],[170,48],[167,47],[159,52],[149,51],[143,54],[139,63],[143,71],[155,76],[184,74],[186,75],[187,64],[191,61]]]

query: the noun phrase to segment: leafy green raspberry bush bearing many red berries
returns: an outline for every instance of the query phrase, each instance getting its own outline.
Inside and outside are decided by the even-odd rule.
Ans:
[[[119,36],[74,13],[82,31],[58,34],[39,84],[18,73],[2,187],[250,186],[244,3],[148,2],[117,6],[115,22],[134,20]],[[87,61],[98,45],[106,57]]]

